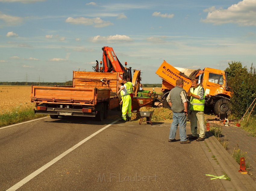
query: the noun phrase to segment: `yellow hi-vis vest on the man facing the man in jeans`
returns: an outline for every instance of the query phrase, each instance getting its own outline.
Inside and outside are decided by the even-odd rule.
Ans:
[[[190,92],[192,94],[198,95],[200,93],[200,90],[202,89],[201,86],[198,86],[197,88],[190,88]],[[194,110],[194,111],[204,111],[204,101],[205,101],[205,94],[203,99],[199,100],[195,97],[190,98],[190,110]]]

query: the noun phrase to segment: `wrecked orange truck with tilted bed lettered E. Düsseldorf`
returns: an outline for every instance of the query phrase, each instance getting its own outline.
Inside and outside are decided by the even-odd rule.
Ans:
[[[230,88],[227,84],[227,73],[223,70],[213,68],[204,68],[204,70],[193,70],[187,68],[173,67],[164,61],[156,71],[156,74],[162,79],[161,102],[163,107],[168,108],[166,97],[170,90],[175,87],[177,79],[183,79],[183,88],[186,92],[191,88],[191,79],[199,79],[205,94],[204,110],[214,110],[216,115],[230,114]]]

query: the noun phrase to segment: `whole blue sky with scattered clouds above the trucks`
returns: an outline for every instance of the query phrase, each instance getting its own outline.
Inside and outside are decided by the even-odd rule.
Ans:
[[[64,82],[93,71],[103,46],[161,83],[175,67],[256,63],[256,0],[0,0],[0,81]]]

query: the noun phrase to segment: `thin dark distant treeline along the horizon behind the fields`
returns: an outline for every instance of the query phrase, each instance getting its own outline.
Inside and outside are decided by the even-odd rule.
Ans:
[[[0,85],[42,85],[42,86],[66,86],[66,85],[73,85],[73,81],[67,82],[0,82]],[[155,87],[162,87],[162,84],[142,84],[143,87],[148,88],[155,88]]]

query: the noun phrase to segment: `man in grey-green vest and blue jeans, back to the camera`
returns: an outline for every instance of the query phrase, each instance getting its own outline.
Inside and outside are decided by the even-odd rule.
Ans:
[[[190,143],[186,134],[186,115],[188,113],[188,99],[183,89],[183,80],[177,79],[176,86],[170,91],[166,100],[173,111],[173,122],[170,128],[169,142],[174,142],[178,124],[180,124],[180,143]]]

